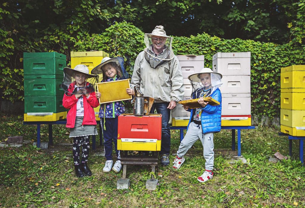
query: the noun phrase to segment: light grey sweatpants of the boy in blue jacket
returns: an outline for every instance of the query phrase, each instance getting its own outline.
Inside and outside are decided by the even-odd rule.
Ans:
[[[201,125],[197,125],[191,122],[188,126],[188,131],[185,137],[180,143],[179,149],[177,151],[178,157],[183,157],[185,153],[192,147],[192,145],[200,139],[203,146],[203,157],[206,160],[205,168],[206,170],[213,170],[214,165],[214,133],[202,134]]]

